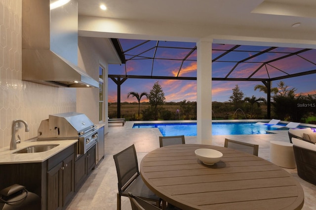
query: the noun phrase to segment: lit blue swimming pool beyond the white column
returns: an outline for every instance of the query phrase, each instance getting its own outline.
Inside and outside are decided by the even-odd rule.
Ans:
[[[134,123],[133,128],[158,128],[166,136],[197,136],[196,122],[183,123]],[[269,134],[277,130],[271,125],[258,125],[256,122],[213,122],[212,135]]]

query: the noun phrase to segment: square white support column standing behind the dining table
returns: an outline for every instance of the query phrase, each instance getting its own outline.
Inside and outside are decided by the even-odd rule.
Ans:
[[[197,143],[212,143],[212,41],[197,42]]]

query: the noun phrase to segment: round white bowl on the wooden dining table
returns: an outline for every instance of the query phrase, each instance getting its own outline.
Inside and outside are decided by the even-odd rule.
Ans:
[[[195,154],[205,165],[214,165],[214,163],[217,163],[223,157],[223,153],[220,151],[207,148],[196,149]]]

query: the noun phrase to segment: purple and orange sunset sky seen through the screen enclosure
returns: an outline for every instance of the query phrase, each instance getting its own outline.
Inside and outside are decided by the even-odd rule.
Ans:
[[[126,74],[128,75],[155,75],[155,76],[176,76],[179,73],[183,59],[195,47],[195,43],[189,42],[159,42],[159,46],[155,51],[153,46],[157,45],[157,41],[149,41],[141,44],[139,47],[134,47],[144,40],[128,40],[120,39],[125,58],[128,60],[126,65],[109,65],[109,74]],[[180,47],[177,49],[167,48]],[[230,49],[233,45],[213,44],[212,59],[223,53],[221,50]],[[188,49],[186,49],[188,48]],[[240,46],[238,51],[230,52],[229,54],[218,59],[212,64],[212,77],[224,77],[238,61],[241,61],[249,56],[256,54],[260,50],[265,50],[269,47],[263,46]],[[239,64],[236,70],[230,77],[247,77],[255,69],[257,69],[263,61],[287,55],[291,52],[297,52],[302,49],[296,48],[277,48],[269,54],[256,56],[248,60],[248,63]],[[154,61],[149,59],[155,54],[155,58],[160,58]],[[137,56],[136,56],[137,55]],[[173,60],[167,60],[173,59]],[[197,51],[195,50],[188,59],[183,62],[179,76],[196,77],[197,76]],[[308,60],[308,61],[307,61]],[[153,67],[153,69],[152,69]],[[126,69],[125,69],[126,68]],[[316,50],[310,50],[300,53],[298,56],[290,56],[279,61],[272,62],[271,65],[266,65],[254,74],[254,78],[265,78],[267,74],[270,77],[282,76],[284,71],[287,73],[297,73],[301,70],[316,70]],[[111,78],[109,80],[108,101],[117,102],[117,85]],[[134,79],[128,78],[121,85],[121,102],[137,102],[133,97],[127,99],[127,93],[147,92],[149,93],[154,83],[158,81],[164,92],[166,102],[180,102],[183,100],[197,101],[197,81],[196,80],[165,80],[165,79]],[[277,87],[280,80],[273,81],[272,87]],[[294,78],[282,79],[289,88],[296,88],[296,93],[316,94],[316,74],[299,76]],[[252,95],[266,98],[266,94],[259,91],[254,91],[254,86],[263,84],[258,81],[212,81],[212,101],[226,102],[233,93],[233,88],[238,84],[240,90],[245,97]],[[142,98],[142,102],[147,101],[146,97]]]

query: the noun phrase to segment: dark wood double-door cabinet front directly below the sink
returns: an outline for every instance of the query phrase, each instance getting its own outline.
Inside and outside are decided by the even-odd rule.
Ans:
[[[75,192],[75,154],[65,150],[48,159],[47,209],[58,210],[71,199]],[[68,155],[68,156],[67,156]],[[63,157],[67,156],[63,159]],[[52,163],[57,163],[52,166]]]

